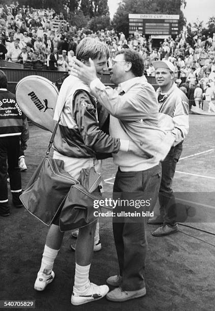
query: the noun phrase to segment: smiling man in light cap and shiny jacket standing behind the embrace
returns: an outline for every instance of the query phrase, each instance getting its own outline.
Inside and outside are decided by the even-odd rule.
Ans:
[[[172,182],[176,164],[182,152],[182,142],[189,130],[189,101],[187,96],[174,82],[174,65],[168,60],[152,63],[155,77],[159,85],[157,96],[159,102],[159,121],[161,125],[172,129],[175,141],[166,158],[162,162],[162,179],[159,192],[160,215],[148,220],[148,224],[163,224],[152,232],[153,236],[163,236],[178,231],[176,223],[175,198]]]

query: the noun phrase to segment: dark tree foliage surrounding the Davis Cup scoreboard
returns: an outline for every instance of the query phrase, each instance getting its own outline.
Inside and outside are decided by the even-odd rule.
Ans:
[[[113,16],[112,26],[129,35],[129,14],[179,14],[179,30],[186,24],[181,8],[186,0],[122,0]]]

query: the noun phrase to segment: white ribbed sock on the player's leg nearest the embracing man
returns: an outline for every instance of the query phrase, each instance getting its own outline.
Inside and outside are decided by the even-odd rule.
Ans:
[[[89,268],[88,266],[79,266],[75,264],[75,282],[73,292],[76,294],[84,294],[89,285]]]

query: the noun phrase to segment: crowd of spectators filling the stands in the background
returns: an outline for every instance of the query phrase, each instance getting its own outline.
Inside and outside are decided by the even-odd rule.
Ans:
[[[192,45],[186,41],[186,32],[175,39],[169,37],[153,47],[152,39],[136,31],[126,38],[114,29],[76,29],[52,9],[36,10],[20,7],[18,2],[0,5],[0,59],[23,64],[24,68],[69,71],[76,46],[86,36],[108,44],[112,59],[118,50],[137,50],[144,59],[145,74],[155,76],[154,60],[167,59],[175,65],[175,81],[191,101],[202,108],[202,100],[215,98],[215,34],[194,36]],[[153,48],[152,48],[153,47]],[[202,90],[202,92],[200,91]]]

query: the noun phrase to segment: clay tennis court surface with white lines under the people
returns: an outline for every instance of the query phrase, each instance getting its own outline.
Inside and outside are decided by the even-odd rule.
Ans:
[[[74,242],[70,232],[66,232],[55,260],[56,278],[44,292],[35,291],[34,282],[48,227],[24,208],[16,209],[11,204],[11,216],[0,219],[0,300],[35,300],[36,310],[214,310],[214,129],[214,116],[190,115],[190,132],[183,144],[173,185],[178,206],[188,214],[185,223],[179,225],[179,232],[170,236],[153,237],[150,233],[157,226],[147,225],[145,297],[124,303],[103,298],[72,306],[75,257],[70,248]],[[25,152],[28,169],[22,172],[23,189],[44,157],[50,135],[30,124],[30,139]],[[107,193],[112,190],[116,170],[111,159],[104,161],[102,175]],[[189,214],[190,210],[195,212]],[[108,276],[118,272],[109,220],[101,220],[100,235],[102,250],[94,253],[90,269],[90,281],[98,285],[105,284]]]

